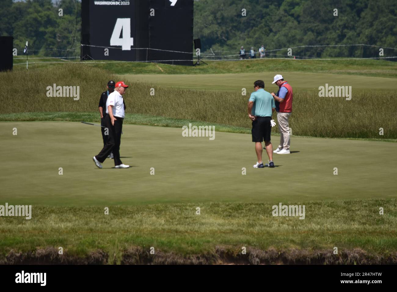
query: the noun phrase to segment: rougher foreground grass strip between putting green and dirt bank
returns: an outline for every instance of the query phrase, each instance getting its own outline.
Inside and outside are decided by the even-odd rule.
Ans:
[[[28,241],[23,240],[21,236],[19,238],[13,238],[12,234],[8,234],[8,232],[2,232],[2,244],[0,244],[0,262],[2,258],[6,258],[10,253],[20,254],[20,253],[33,253],[37,250],[45,250],[45,249],[55,249],[58,251],[58,246],[62,246],[64,251],[67,252],[70,256],[77,257],[85,257],[90,253],[100,251],[101,253],[113,254],[115,253],[116,257],[121,260],[121,255],[128,254],[129,249],[138,248],[138,252],[134,252],[135,255],[145,255],[148,253],[149,248],[151,246],[155,246],[156,252],[161,251],[161,253],[171,253],[176,255],[216,255],[218,247],[227,247],[225,252],[238,253],[241,251],[241,247],[245,246],[247,251],[249,248],[251,250],[256,250],[261,253],[262,251],[269,251],[270,249],[274,249],[279,252],[288,253],[289,250],[295,251],[306,251],[308,255],[316,255],[316,253],[327,253],[332,255],[333,247],[337,246],[339,249],[339,253],[345,253],[347,251],[353,252],[356,249],[360,250],[361,254],[364,254],[365,257],[384,257],[388,258],[390,256],[393,257],[393,263],[397,263],[397,238],[393,236],[393,226],[395,221],[397,220],[397,200],[396,199],[366,199],[366,200],[339,200],[339,201],[330,201],[330,202],[313,202],[308,201],[306,203],[303,202],[285,202],[284,205],[311,205],[311,209],[313,209],[313,214],[311,215],[311,219],[309,219],[309,223],[303,222],[305,220],[299,220],[297,218],[291,217],[279,217],[278,219],[274,219],[271,216],[271,205],[273,203],[217,203],[213,202],[207,204],[207,206],[203,206],[203,210],[206,211],[204,216],[210,216],[208,218],[203,218],[202,224],[200,223],[200,228],[196,230],[198,234],[201,234],[202,238],[197,238],[197,234],[191,238],[189,234],[191,234],[191,224],[196,220],[196,215],[194,215],[195,203],[176,203],[171,205],[171,216],[176,215],[179,216],[179,219],[174,218],[174,220],[182,220],[182,224],[184,230],[180,230],[178,232],[179,236],[175,238],[170,238],[171,234],[174,234],[175,223],[170,223],[166,230],[162,228],[156,229],[156,227],[145,234],[140,234],[139,232],[135,235],[128,235],[128,230],[125,230],[121,226],[120,232],[115,232],[114,228],[106,227],[107,225],[117,225],[119,220],[133,220],[135,217],[142,217],[142,215],[147,216],[148,219],[153,218],[153,212],[160,216],[162,214],[168,214],[170,216],[170,206],[167,204],[152,204],[150,206],[142,207],[142,206],[113,206],[112,207],[112,216],[109,218],[100,219],[99,212],[102,210],[101,207],[95,206],[85,206],[85,207],[46,207],[46,206],[37,206],[39,207],[39,224],[40,221],[44,220],[49,215],[54,219],[50,223],[50,230],[46,226],[41,226],[40,228],[37,226],[32,226],[31,229],[32,238]],[[377,215],[379,212],[379,207],[382,206],[385,209],[384,215]],[[264,214],[264,207],[268,209],[269,212]],[[343,208],[343,209],[341,209]],[[192,217],[185,218],[186,211],[193,210],[192,212],[188,212]],[[348,212],[349,209],[352,209],[353,213],[350,214]],[[58,224],[55,219],[58,219],[58,222],[62,221],[62,224],[65,224],[65,219],[69,217],[69,213],[73,211],[74,219],[76,222],[83,222],[82,234],[81,236],[75,236],[75,238],[66,238],[66,234],[62,233],[62,230],[58,230],[60,233],[52,233],[51,229],[58,229],[56,226],[52,226],[51,224]],[[332,212],[330,212],[332,211]],[[363,211],[361,213],[360,211]],[[77,212],[77,213],[76,213]],[[91,213],[92,214],[91,214]],[[240,236],[239,240],[232,239],[231,233],[233,233],[233,226],[236,224],[234,221],[244,215],[244,213],[253,214],[253,224],[259,224],[262,222],[262,229],[259,233],[269,233],[267,236],[267,242],[260,244],[258,240],[262,237],[258,234],[257,230],[258,226],[255,228],[248,228],[246,232],[244,232],[244,238],[241,238],[241,231],[237,234]],[[263,213],[263,215],[262,215]],[[338,214],[339,213],[339,214]],[[79,216],[81,214],[83,217]],[[329,218],[324,218],[324,214],[328,214]],[[354,214],[354,215],[353,215]],[[95,218],[91,218],[95,215]],[[313,217],[315,215],[315,217]],[[127,217],[126,217],[127,216]],[[156,216],[156,217],[157,217]],[[353,216],[353,218],[351,218]],[[198,217],[197,217],[198,218]],[[309,217],[308,217],[309,218]],[[346,219],[349,218],[349,222]],[[71,218],[69,218],[71,219]],[[220,224],[223,226],[224,231],[226,232],[225,236],[218,236],[218,231],[212,230],[213,225],[208,224],[208,220],[215,220],[211,224]],[[281,219],[282,222],[279,222]],[[293,220],[297,219],[297,220]],[[87,221],[88,220],[88,221]],[[94,222],[99,223],[107,223],[102,229],[96,228],[95,230],[91,230],[91,224]],[[157,220],[157,219],[156,219]],[[241,224],[246,224],[247,222],[242,219]],[[87,221],[89,224],[84,225],[84,222]],[[301,222],[302,221],[302,222]],[[330,221],[330,222],[329,222]],[[346,221],[346,222],[345,222]],[[218,222],[218,223],[217,223]],[[270,224],[272,222],[272,224]],[[326,224],[326,222],[329,222]],[[344,222],[344,223],[343,223]],[[351,224],[358,224],[365,222],[366,231],[361,230],[357,233],[357,230],[354,227],[349,227]],[[181,223],[181,222],[179,222]],[[303,224],[300,224],[303,223]],[[2,226],[4,224],[4,226]],[[81,223],[80,223],[81,224]],[[126,224],[129,225],[127,222]],[[139,225],[139,223],[136,223]],[[285,224],[289,225],[292,228],[294,234],[290,234],[288,226],[287,228],[281,230],[281,232],[273,234],[275,228],[279,226],[284,226]],[[298,225],[297,225],[298,224]],[[342,225],[341,225],[342,224]],[[4,231],[7,229],[12,229],[17,231],[18,229],[27,228],[26,225],[30,225],[29,222],[24,221],[21,218],[10,218],[10,221],[3,222],[0,224],[0,228]],[[177,224],[179,225],[179,224]],[[294,227],[295,226],[295,227]],[[116,226],[114,226],[116,227]],[[67,229],[70,228],[66,227]],[[85,229],[86,228],[86,229]],[[110,228],[110,229],[109,229]],[[231,228],[231,229],[230,229]],[[315,230],[318,228],[324,229],[323,232],[317,234],[317,240],[311,238],[310,242],[302,241],[302,236],[304,234],[312,232],[312,237],[316,234]],[[55,230],[54,229],[54,230]],[[112,239],[110,240],[100,240],[98,238],[102,237],[105,234],[111,232],[115,233],[112,235]],[[88,231],[89,234],[87,233]],[[139,229],[138,229],[139,231]],[[158,233],[161,231],[160,233]],[[165,232],[164,232],[165,231]],[[93,232],[94,235],[91,233]],[[152,233],[150,233],[152,232]],[[247,233],[248,232],[248,233]],[[40,233],[42,233],[40,235]],[[227,235],[229,233],[229,235]],[[328,234],[324,236],[324,234]],[[29,232],[27,233],[29,234]],[[168,235],[167,235],[168,234]],[[180,237],[180,235],[185,234]],[[195,232],[193,233],[195,234]],[[296,238],[291,240],[291,236]],[[387,236],[387,237],[386,237]],[[385,240],[387,238],[387,240]],[[238,243],[237,243],[237,242]],[[20,244],[18,244],[18,242]],[[56,242],[56,243],[55,243]],[[96,242],[93,244],[93,242]],[[55,244],[54,244],[55,243]],[[13,246],[10,246],[13,244]],[[16,244],[16,245],[15,245]],[[353,252],[354,253],[354,252]],[[292,252],[291,255],[294,253]],[[303,253],[304,255],[305,253]],[[315,258],[315,257],[314,257]]]

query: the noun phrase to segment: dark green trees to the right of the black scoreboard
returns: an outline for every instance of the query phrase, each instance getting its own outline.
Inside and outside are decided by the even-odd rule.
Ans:
[[[247,16],[243,16],[243,9]],[[334,16],[337,9],[338,16]],[[295,46],[370,44],[397,45],[397,1],[387,0],[199,0],[195,2],[194,35],[202,50],[240,46],[246,53]],[[376,57],[379,48],[362,46],[306,47],[293,55],[310,57]],[[397,56],[396,50],[384,50]],[[287,50],[274,51],[284,57]],[[269,55],[269,54],[267,54]],[[272,56],[272,55],[270,55]]]

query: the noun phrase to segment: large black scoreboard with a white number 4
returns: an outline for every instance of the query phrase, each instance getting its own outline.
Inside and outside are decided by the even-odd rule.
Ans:
[[[83,0],[81,6],[82,60],[193,64],[193,0]]]

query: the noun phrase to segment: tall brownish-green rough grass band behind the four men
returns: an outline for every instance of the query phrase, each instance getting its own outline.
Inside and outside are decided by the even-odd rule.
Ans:
[[[114,75],[98,68],[70,64],[47,70],[0,73],[1,113],[95,112],[102,91]],[[115,80],[118,81],[118,80]],[[198,120],[250,128],[247,96],[233,91],[197,91],[130,83],[127,113]],[[79,86],[80,99],[47,97],[47,86]],[[154,96],[150,89],[154,88]],[[393,92],[355,91],[343,97],[318,97],[318,91],[294,93],[290,127],[293,135],[344,138],[397,138],[397,102]],[[276,120],[276,114],[273,115]],[[384,135],[380,135],[380,128]],[[272,129],[278,132],[278,127]]]

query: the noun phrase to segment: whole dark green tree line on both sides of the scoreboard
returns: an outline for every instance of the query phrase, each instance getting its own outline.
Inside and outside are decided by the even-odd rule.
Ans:
[[[63,9],[59,16],[58,9]],[[244,11],[245,10],[245,15]],[[337,16],[335,16],[337,9]],[[371,44],[395,48],[397,1],[386,0],[198,0],[194,8],[194,37],[202,51],[249,52],[264,44],[271,53],[287,55],[295,46]],[[12,35],[14,47],[42,56],[79,56],[81,1],[2,0],[0,35]],[[77,25],[76,25],[77,21]],[[77,50],[68,49],[78,47]],[[376,57],[379,48],[362,46],[305,47],[293,55],[308,57]],[[384,56],[397,56],[384,49]]]

